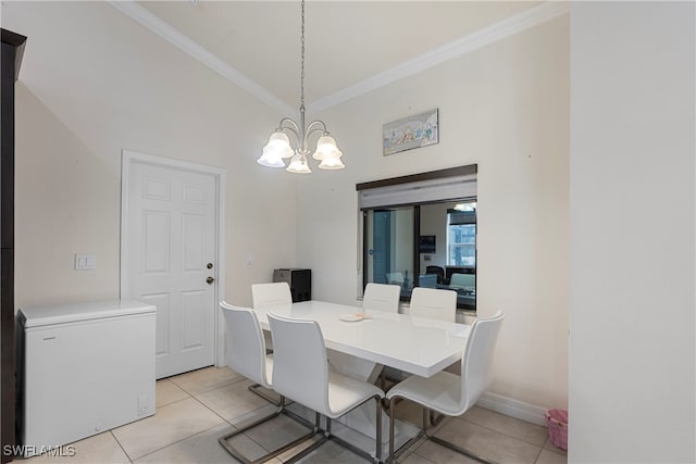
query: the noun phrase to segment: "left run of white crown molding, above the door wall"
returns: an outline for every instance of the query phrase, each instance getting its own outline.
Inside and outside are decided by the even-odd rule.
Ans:
[[[184,52],[190,54],[217,74],[229,79],[232,83],[253,95],[259,100],[266,103],[269,106],[277,110],[282,114],[297,113],[297,109],[291,108],[283,100],[241,74],[239,71],[235,70],[228,63],[221,60],[217,55],[211,53],[206,48],[201,47],[198,42],[191,40],[184,34],[182,34],[178,29],[160,20],[158,16],[153,15],[148,10],[137,4],[135,1],[110,0],[109,3],[116,10],[121,11],[123,14],[137,21],[158,36],[178,47]]]

